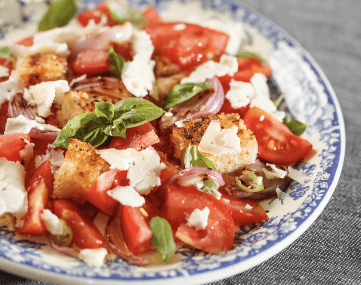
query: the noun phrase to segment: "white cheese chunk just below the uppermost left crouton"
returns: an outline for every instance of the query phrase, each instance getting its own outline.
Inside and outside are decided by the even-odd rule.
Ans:
[[[64,100],[64,94],[69,92],[68,81],[44,81],[29,86],[24,89],[24,99],[29,105],[36,106],[38,115],[48,117],[51,112],[50,108],[53,103],[61,105]]]

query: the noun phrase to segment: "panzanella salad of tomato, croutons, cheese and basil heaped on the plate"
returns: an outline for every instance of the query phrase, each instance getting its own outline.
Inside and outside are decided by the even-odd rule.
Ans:
[[[0,48],[0,215],[18,234],[96,267],[180,245],[218,254],[235,226],[268,219],[259,200],[305,183],[291,165],[312,150],[306,125],[270,100],[241,24],[116,0],[76,10],[54,2]]]

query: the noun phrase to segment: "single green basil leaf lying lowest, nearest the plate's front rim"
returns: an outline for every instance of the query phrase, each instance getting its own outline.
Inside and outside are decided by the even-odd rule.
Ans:
[[[152,245],[163,255],[163,260],[168,259],[176,249],[168,221],[161,217],[153,217],[149,221],[149,228],[153,231]]]

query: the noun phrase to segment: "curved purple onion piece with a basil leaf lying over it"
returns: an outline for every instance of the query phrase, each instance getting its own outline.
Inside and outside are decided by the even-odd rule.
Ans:
[[[168,112],[172,112],[177,120],[195,119],[199,116],[217,114],[225,101],[223,87],[217,77],[213,77],[207,82],[213,85],[213,92],[209,92],[207,89],[179,106],[170,108]]]

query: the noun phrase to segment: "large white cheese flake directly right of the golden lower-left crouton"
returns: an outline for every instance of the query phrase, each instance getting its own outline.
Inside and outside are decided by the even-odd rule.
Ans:
[[[160,156],[152,146],[140,151],[108,148],[96,150],[96,153],[110,164],[110,169],[128,170],[129,186],[140,195],[148,194],[153,187],[160,185],[159,175],[166,165],[160,162]]]

